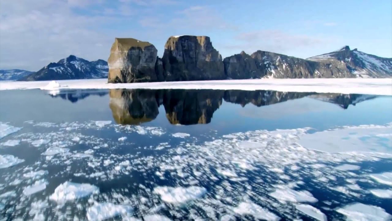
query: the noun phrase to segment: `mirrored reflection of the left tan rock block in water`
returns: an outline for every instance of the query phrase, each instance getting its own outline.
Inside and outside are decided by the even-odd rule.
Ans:
[[[120,124],[140,124],[158,116],[158,90],[112,89],[109,107],[113,118]]]

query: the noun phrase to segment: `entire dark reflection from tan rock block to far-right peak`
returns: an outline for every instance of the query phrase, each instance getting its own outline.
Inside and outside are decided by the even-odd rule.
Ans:
[[[272,105],[309,96],[310,98],[336,103],[347,109],[361,101],[376,98],[361,94],[317,94],[303,92],[279,92],[270,90],[149,90],[112,89],[109,107],[113,118],[120,124],[140,124],[154,120],[163,104],[167,120],[172,124],[192,125],[210,123],[212,115],[224,99],[244,107],[252,103],[257,107]]]

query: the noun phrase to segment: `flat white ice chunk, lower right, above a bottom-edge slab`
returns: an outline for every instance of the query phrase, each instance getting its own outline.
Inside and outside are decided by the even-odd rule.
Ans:
[[[303,190],[303,191],[296,191],[289,188],[278,189],[275,192],[269,193],[270,196],[274,197],[278,201],[285,203],[285,202],[310,202],[314,203],[318,200],[313,197],[312,193]]]

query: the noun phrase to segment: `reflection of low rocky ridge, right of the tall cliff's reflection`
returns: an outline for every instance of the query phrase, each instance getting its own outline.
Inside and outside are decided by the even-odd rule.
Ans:
[[[226,102],[238,103],[244,107],[247,103],[252,103],[257,107],[303,98],[314,93],[304,92],[280,92],[272,90],[226,90],[224,99]]]

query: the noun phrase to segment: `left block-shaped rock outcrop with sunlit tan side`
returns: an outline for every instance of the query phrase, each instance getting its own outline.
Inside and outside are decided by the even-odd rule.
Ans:
[[[158,81],[155,72],[157,50],[149,42],[132,38],[116,38],[108,59],[108,83]],[[162,80],[159,79],[159,80]]]

